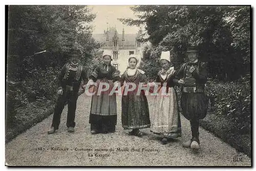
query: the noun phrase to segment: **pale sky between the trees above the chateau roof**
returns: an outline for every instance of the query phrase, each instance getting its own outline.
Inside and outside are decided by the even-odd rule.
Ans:
[[[92,12],[96,13],[96,18],[92,23],[94,25],[94,34],[103,33],[107,28],[107,23],[109,27],[116,27],[117,31],[120,33],[124,28],[126,34],[136,34],[139,30],[136,26],[126,26],[123,25],[117,18],[136,18],[136,15],[130,9],[132,6],[89,6],[92,8]]]

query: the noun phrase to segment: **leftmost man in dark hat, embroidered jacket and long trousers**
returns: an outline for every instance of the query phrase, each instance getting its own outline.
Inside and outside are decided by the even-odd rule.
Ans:
[[[86,70],[78,63],[81,52],[73,51],[71,61],[66,63],[58,76],[58,99],[55,104],[52,126],[48,131],[48,134],[53,134],[59,128],[60,116],[66,101],[68,101],[68,117],[67,127],[68,132],[74,132],[75,127],[75,112],[76,112],[76,101],[78,98],[78,91],[80,88],[81,81],[86,85],[88,82]]]

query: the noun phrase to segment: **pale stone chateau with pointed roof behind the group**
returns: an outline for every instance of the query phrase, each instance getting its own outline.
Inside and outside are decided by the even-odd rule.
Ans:
[[[114,27],[107,28],[102,34],[93,34],[95,40],[103,44],[102,50],[111,50],[113,61],[112,65],[122,74],[128,64],[128,59],[131,54],[136,54],[139,62],[143,56],[143,48],[146,44],[138,41],[139,34],[125,34],[124,29],[122,34],[119,34]]]

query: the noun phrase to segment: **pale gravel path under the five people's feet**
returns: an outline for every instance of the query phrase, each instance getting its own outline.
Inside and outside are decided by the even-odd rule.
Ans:
[[[152,97],[148,103],[152,108]],[[91,97],[77,101],[76,127],[68,133],[65,106],[59,130],[48,135],[53,115],[6,144],[6,165],[15,166],[251,166],[251,159],[200,127],[201,149],[194,152],[181,143],[190,139],[189,122],[181,116],[182,137],[166,145],[149,129],[142,138],[129,136],[121,126],[121,98],[117,97],[118,121],[115,133],[90,134]],[[77,151],[81,149],[83,151]],[[114,151],[110,151],[110,149]],[[117,151],[117,149],[126,151]],[[132,149],[139,149],[133,152]],[[59,150],[58,150],[59,149]],[[60,150],[63,149],[63,150]],[[107,151],[95,151],[103,149]],[[154,149],[144,151],[143,149]],[[143,151],[142,151],[143,150]],[[91,157],[92,155],[92,157]],[[234,162],[234,158],[237,162]],[[242,161],[241,161],[242,160]]]

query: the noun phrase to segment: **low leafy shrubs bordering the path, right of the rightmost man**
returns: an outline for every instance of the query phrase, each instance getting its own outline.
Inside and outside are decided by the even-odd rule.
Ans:
[[[248,76],[232,82],[210,79],[206,84],[206,93],[215,101],[211,113],[230,119],[236,131],[250,133],[250,89]]]

